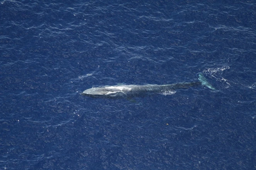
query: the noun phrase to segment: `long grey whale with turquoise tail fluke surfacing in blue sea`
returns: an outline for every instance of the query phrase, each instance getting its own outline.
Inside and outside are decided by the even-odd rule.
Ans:
[[[146,85],[113,85],[92,87],[81,94],[92,98],[132,98],[141,97],[148,94],[170,95],[177,89],[188,89],[190,87],[206,86],[212,90],[215,88],[207,81],[202,73],[199,73],[198,80],[195,82],[182,82],[174,84],[146,84]]]

